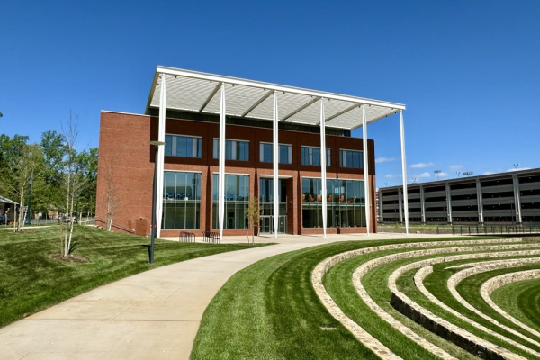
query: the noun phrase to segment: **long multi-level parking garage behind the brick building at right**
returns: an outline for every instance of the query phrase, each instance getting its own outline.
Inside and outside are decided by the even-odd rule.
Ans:
[[[409,221],[421,224],[540,223],[540,169],[407,186]],[[403,222],[403,186],[379,189],[381,223]]]

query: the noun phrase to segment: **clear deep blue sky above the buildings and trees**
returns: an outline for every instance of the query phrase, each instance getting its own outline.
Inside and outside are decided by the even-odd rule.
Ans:
[[[540,167],[540,2],[24,1],[0,4],[0,131],[144,111],[157,65],[405,103],[408,182]],[[361,132],[355,132],[361,136]],[[399,116],[368,126],[401,183]],[[382,161],[386,159],[387,161]]]

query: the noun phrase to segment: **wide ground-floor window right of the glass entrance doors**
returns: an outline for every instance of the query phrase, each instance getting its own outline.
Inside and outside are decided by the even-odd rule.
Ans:
[[[327,227],[365,227],[364,181],[327,179]],[[322,228],[321,180],[302,178],[302,226]]]

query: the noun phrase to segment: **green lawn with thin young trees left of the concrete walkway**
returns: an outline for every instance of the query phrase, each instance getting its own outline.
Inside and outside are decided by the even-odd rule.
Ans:
[[[0,327],[126,276],[195,257],[247,248],[241,244],[156,240],[155,264],[148,264],[149,238],[76,226],[74,254],[87,263],[54,260],[60,253],[59,226],[0,230]]]

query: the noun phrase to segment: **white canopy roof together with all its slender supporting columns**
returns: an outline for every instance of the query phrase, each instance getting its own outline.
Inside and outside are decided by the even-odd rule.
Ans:
[[[218,76],[174,67],[157,66],[146,113],[150,107],[159,108],[158,141],[165,142],[166,109],[220,115],[218,215],[220,238],[223,235],[225,211],[225,123],[226,116],[237,116],[273,121],[274,140],[278,141],[278,123],[289,122],[320,126],[320,148],[326,148],[325,127],[355,130],[362,127],[364,141],[364,171],[368,174],[367,124],[400,113],[401,168],[405,205],[405,227],[409,233],[409,206],[405,161],[405,132],[403,110],[405,105],[344,94],[332,94],[299,87],[276,85],[230,76]],[[274,193],[278,193],[278,147],[274,148]],[[323,233],[327,231],[326,156],[321,151],[320,174],[322,191]],[[163,173],[165,152],[157,151],[156,219],[161,219],[163,203]],[[278,229],[279,199],[274,197],[275,229]],[[369,184],[365,181],[365,208],[367,235],[370,233]],[[277,238],[278,231],[275,231]],[[157,226],[157,237],[160,226]]]

